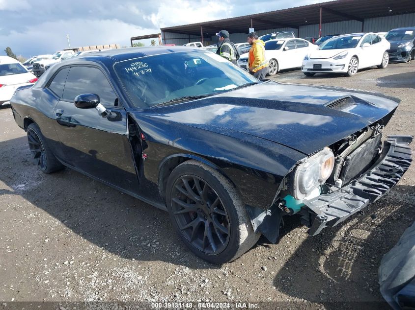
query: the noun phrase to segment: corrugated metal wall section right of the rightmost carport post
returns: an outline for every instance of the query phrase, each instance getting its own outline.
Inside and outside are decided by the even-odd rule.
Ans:
[[[365,32],[387,32],[393,28],[414,27],[415,13],[371,18],[364,21]]]

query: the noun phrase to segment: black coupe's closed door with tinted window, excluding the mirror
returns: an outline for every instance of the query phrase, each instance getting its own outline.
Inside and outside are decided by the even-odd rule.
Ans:
[[[80,109],[74,98],[97,94],[114,118]],[[138,193],[138,178],[127,136],[127,115],[105,74],[96,67],[70,67],[55,106],[55,130],[63,161],[126,191]]]

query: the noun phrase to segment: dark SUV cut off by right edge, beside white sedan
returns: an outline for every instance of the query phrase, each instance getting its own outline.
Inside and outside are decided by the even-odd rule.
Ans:
[[[390,43],[389,62],[410,62],[415,58],[415,27],[392,29],[385,38]]]

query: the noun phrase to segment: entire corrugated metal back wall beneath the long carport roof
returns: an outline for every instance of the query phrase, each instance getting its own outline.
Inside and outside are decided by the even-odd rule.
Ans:
[[[324,13],[323,13],[324,14]],[[322,35],[327,34],[346,34],[353,32],[361,32],[361,22],[359,21],[344,21],[337,23],[326,23],[321,26]],[[364,32],[387,32],[390,29],[398,27],[408,27],[415,26],[415,13],[411,14],[402,14],[386,17],[377,17],[364,20],[363,31]],[[255,24],[254,24],[255,27]],[[301,26],[299,31],[299,37],[317,37],[318,36],[318,24]],[[219,31],[219,30],[218,30]],[[268,30],[259,30],[256,33],[261,36],[267,33],[277,32],[277,31],[293,31],[294,35],[297,36],[297,29],[295,28],[277,28],[277,29],[268,29]],[[189,43],[189,35],[179,34],[172,32],[162,32],[162,39],[166,36],[166,42],[164,44],[175,44],[183,45]],[[234,43],[242,43],[247,41],[247,33],[232,33],[230,39]],[[190,42],[201,41],[200,36],[190,36]],[[216,44],[218,38],[216,36],[204,38],[205,46],[209,44]]]

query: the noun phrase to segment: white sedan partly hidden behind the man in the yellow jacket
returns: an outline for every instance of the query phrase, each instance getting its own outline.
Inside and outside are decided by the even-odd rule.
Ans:
[[[284,69],[300,68],[305,55],[318,46],[299,38],[284,38],[265,42],[265,58],[269,62],[268,75]],[[238,67],[248,70],[249,53],[242,54]]]

